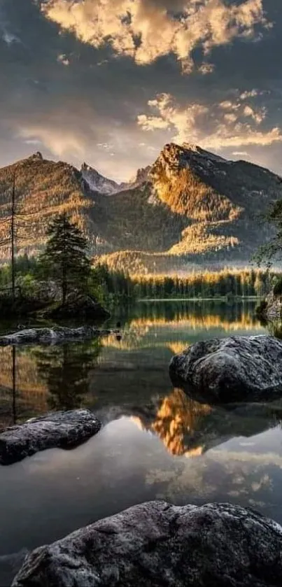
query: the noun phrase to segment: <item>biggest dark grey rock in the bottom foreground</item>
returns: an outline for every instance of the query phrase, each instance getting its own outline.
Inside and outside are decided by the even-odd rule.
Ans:
[[[282,528],[230,504],[136,505],[31,553],[12,587],[281,586]]]

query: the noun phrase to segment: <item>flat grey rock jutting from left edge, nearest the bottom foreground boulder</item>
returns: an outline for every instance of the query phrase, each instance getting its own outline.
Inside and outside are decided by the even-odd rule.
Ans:
[[[13,462],[46,448],[73,448],[99,432],[100,421],[86,409],[50,412],[0,434],[0,463]]]

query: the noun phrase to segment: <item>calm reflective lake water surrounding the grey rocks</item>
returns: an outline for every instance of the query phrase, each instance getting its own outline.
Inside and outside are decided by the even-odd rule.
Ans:
[[[73,451],[0,467],[1,586],[26,550],[146,500],[229,501],[282,523],[282,402],[214,409],[168,375],[172,355],[190,343],[265,332],[253,311],[140,303],[119,317],[121,340],[17,348],[14,380],[13,350],[0,349],[1,425],[78,406],[104,423]]]

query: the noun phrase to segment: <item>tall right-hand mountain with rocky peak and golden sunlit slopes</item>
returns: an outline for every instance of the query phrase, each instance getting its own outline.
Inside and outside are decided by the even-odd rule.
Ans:
[[[148,170],[145,183],[129,190],[127,197],[130,211],[123,216],[126,232],[119,235],[119,250],[102,257],[110,267],[144,273],[238,266],[248,263],[272,234],[260,217],[282,197],[282,180],[246,161],[225,160],[187,143],[169,143]],[[113,204],[118,206],[121,199],[115,195]],[[137,201],[142,203],[138,215]],[[117,214],[120,217],[120,211]],[[139,236],[142,216],[148,230],[143,224]]]

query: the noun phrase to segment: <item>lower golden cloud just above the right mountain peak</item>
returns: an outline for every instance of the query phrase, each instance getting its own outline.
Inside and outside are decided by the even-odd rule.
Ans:
[[[189,141],[203,148],[222,149],[241,146],[269,146],[281,142],[279,127],[258,129],[265,120],[266,108],[256,111],[246,101],[223,101],[220,104],[181,106],[171,94],[160,94],[148,101],[153,115],[141,114],[137,124],[146,132],[165,129],[171,140]],[[246,119],[251,118],[253,125]]]

